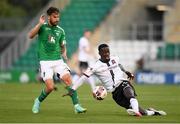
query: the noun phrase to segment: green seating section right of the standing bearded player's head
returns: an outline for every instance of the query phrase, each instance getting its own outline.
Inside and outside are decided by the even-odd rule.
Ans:
[[[111,10],[115,0],[73,0],[71,4],[62,13],[61,26],[66,31],[66,39],[69,44],[68,56],[76,51],[78,39],[81,37],[83,30],[95,29],[96,26]]]

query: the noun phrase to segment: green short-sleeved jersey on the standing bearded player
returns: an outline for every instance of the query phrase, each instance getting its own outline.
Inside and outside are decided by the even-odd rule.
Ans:
[[[58,60],[61,57],[61,44],[64,44],[65,32],[57,26],[44,23],[38,32],[38,57],[39,60]]]

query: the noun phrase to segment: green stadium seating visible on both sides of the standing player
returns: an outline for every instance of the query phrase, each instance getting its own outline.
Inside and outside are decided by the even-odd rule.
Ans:
[[[68,56],[70,57],[78,46],[78,39],[85,29],[94,30],[110,12],[116,0],[72,0],[61,12],[60,26],[66,32]],[[36,70],[37,42],[33,42],[30,48],[14,64],[16,70]]]

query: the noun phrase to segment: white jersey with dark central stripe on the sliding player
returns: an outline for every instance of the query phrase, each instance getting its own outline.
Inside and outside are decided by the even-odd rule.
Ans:
[[[96,75],[103,86],[107,89],[107,91],[112,92],[122,80],[127,80],[124,77],[124,72],[119,67],[119,57],[114,56],[110,57],[110,61],[108,63],[104,63],[98,60],[93,67],[88,68],[84,75],[89,77],[91,75]]]

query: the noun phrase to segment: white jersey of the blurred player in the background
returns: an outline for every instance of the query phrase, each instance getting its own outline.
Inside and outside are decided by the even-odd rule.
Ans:
[[[88,62],[89,54],[85,51],[85,49],[89,49],[89,41],[86,37],[82,37],[79,40],[79,61]]]

